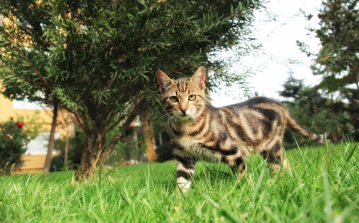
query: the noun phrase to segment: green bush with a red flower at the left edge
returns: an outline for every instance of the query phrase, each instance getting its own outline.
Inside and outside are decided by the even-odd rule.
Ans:
[[[0,173],[9,174],[12,168],[21,167],[21,156],[26,151],[29,137],[21,121],[12,119],[0,123]]]

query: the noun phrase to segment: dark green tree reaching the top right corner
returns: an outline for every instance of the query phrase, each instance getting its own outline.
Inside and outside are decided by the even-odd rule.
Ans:
[[[323,75],[318,87],[328,94],[340,94],[351,103],[352,123],[359,128],[359,16],[358,0],[324,0],[319,11],[319,28],[309,28],[319,38],[321,49],[308,52],[303,43],[299,46],[308,56],[316,56],[313,73]],[[306,16],[308,19],[312,15]],[[356,86],[356,89],[353,88]]]

